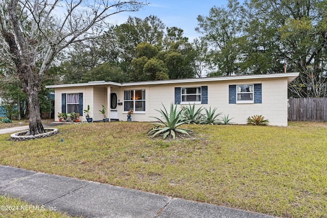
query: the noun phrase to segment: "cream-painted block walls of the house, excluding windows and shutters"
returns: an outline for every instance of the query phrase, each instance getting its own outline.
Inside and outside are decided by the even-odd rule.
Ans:
[[[230,85],[240,84],[261,84],[261,103],[256,104],[236,104],[236,99],[230,100],[230,92],[233,87]],[[247,118],[251,115],[263,115],[269,120],[270,125],[287,126],[287,79],[286,78],[269,78],[269,79],[249,79],[249,80],[233,80],[233,81],[215,81],[215,82],[196,82],[196,83],[176,83],[176,84],[156,84],[156,85],[133,85],[123,87],[111,87],[112,91],[118,92],[118,102],[123,103],[118,105],[119,120],[127,120],[127,111],[124,111],[124,90],[145,89],[146,103],[145,112],[134,112],[132,114],[133,121],[155,121],[155,117],[160,117],[156,110],[163,109],[164,105],[167,109],[171,103],[180,104],[180,95],[176,96],[176,87],[200,87],[207,86],[207,99],[205,104],[196,105],[197,108],[203,106],[206,108],[217,107],[217,112],[229,114],[229,117],[234,117],[231,121],[237,124],[246,124]],[[258,90],[257,90],[258,91]],[[86,109],[90,105],[90,117],[94,120],[101,120],[102,105],[107,108],[107,88],[106,87],[71,87],[71,88],[56,88],[55,91],[55,114],[61,112],[61,93],[83,93],[83,108]],[[203,89],[202,89],[203,92]],[[179,91],[180,93],[180,91]],[[177,101],[176,101],[177,97]],[[257,98],[258,96],[256,96]],[[178,101],[179,98],[179,101]],[[236,98],[236,95],[235,95]],[[235,101],[235,103],[233,102]],[[258,100],[259,101],[259,100]],[[60,104],[57,104],[57,103]],[[178,107],[181,107],[180,105]],[[84,119],[85,116],[83,116]]]

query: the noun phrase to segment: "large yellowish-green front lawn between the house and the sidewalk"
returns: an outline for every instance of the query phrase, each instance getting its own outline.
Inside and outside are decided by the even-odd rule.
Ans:
[[[327,214],[326,123],[185,125],[196,134],[175,141],[150,139],[150,128],[64,125],[25,142],[0,135],[0,164],[275,216]]]

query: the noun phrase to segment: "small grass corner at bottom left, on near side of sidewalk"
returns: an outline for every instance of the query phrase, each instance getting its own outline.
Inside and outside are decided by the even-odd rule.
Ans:
[[[26,201],[21,201],[8,196],[0,196],[0,217],[38,217],[38,218],[66,218],[71,217],[64,213],[55,212],[55,208],[47,208],[46,206],[32,205]],[[34,208],[33,208],[34,206]],[[4,207],[4,208],[3,208]]]

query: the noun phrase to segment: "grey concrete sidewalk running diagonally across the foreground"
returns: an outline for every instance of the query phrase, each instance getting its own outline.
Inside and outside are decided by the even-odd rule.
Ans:
[[[83,217],[273,217],[2,165],[0,195]]]

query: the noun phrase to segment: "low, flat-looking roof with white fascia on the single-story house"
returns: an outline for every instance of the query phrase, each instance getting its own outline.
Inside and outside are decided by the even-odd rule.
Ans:
[[[105,81],[94,81],[94,82],[88,82],[88,83],[50,85],[50,86],[45,86],[45,87],[46,88],[63,88],[63,87],[95,86],[95,85],[136,86],[136,85],[212,82],[212,81],[267,79],[267,78],[285,78],[285,77],[287,78],[288,83],[291,83],[296,77],[298,77],[298,75],[299,75],[299,72],[288,72],[286,74],[252,74],[252,75],[204,77],[204,78],[190,78],[190,79],[177,79],[177,80],[156,80],[156,81],[143,81],[143,82],[130,82],[130,83],[114,83],[114,82],[105,82]]]

